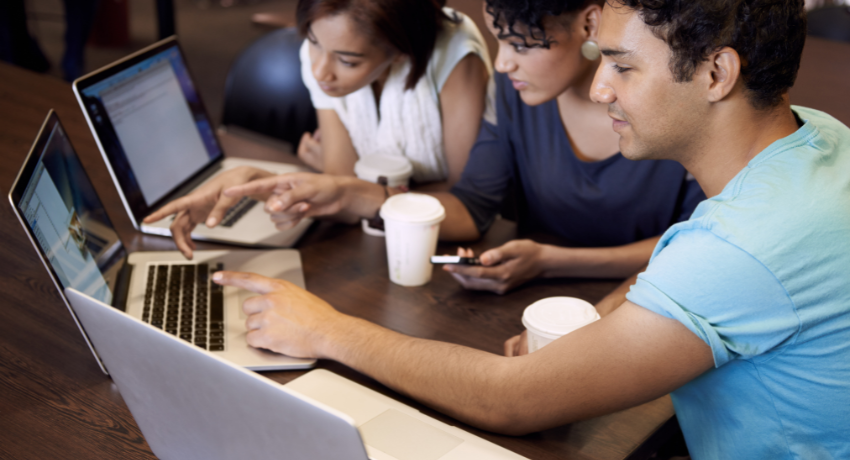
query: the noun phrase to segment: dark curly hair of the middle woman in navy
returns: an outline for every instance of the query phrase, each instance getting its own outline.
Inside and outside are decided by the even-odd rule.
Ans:
[[[602,5],[603,0],[487,0],[486,9],[493,16],[499,39],[516,37],[528,48],[549,48],[551,41],[543,19],[574,13],[591,4]],[[517,25],[527,27],[528,32],[517,32]]]

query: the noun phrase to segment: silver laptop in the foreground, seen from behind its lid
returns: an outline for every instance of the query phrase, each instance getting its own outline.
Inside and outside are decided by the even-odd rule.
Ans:
[[[280,386],[66,293],[159,458],[523,458],[331,372]]]

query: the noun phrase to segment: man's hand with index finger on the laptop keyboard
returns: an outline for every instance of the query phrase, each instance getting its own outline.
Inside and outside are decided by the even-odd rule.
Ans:
[[[346,318],[324,300],[283,280],[253,273],[217,272],[213,281],[260,294],[242,304],[248,345],[295,358],[324,358],[322,339]]]

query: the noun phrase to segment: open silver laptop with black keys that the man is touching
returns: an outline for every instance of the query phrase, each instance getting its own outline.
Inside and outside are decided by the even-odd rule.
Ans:
[[[298,251],[198,251],[191,262],[177,251],[128,253],[52,110],[9,201],[60,294],[68,287],[85,292],[240,366],[265,370],[314,364],[249,347],[242,312],[248,294],[210,282],[212,272],[232,269],[303,287]]]

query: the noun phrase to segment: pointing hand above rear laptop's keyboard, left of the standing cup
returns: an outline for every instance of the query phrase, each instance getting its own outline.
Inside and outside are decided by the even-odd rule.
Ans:
[[[231,187],[224,195],[233,200],[251,195],[268,196],[265,211],[278,230],[286,230],[306,217],[342,211],[346,194],[340,180],[330,174],[282,174]]]

